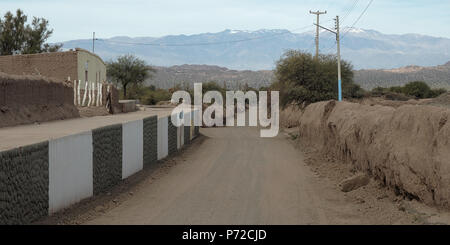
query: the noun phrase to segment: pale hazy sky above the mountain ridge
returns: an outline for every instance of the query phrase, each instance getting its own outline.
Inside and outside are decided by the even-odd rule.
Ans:
[[[0,0],[0,14],[24,10],[47,18],[50,42],[113,36],[164,36],[225,29],[296,30],[312,24],[309,10],[327,10],[322,20],[341,18],[351,26],[370,0]],[[356,27],[383,33],[419,33],[450,38],[450,0],[374,0]],[[327,23],[332,25],[331,22]],[[302,29],[298,32],[312,29]]]

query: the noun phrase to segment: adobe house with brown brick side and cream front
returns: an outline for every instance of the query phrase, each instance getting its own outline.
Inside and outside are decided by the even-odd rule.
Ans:
[[[65,52],[0,56],[0,72],[14,75],[42,75],[59,81],[106,81],[103,60],[87,50],[76,48]]]

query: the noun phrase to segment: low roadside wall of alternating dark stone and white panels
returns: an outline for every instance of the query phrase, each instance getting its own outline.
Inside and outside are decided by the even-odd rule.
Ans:
[[[181,149],[181,129],[152,116],[0,152],[0,224],[31,223],[108,191]]]

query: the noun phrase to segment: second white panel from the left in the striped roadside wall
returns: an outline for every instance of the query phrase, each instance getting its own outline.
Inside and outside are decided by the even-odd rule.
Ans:
[[[144,167],[143,120],[122,124],[122,179]]]

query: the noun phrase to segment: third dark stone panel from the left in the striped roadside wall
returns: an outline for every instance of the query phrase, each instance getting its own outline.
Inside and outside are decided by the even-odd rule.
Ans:
[[[144,167],[158,160],[158,117],[144,118]]]

